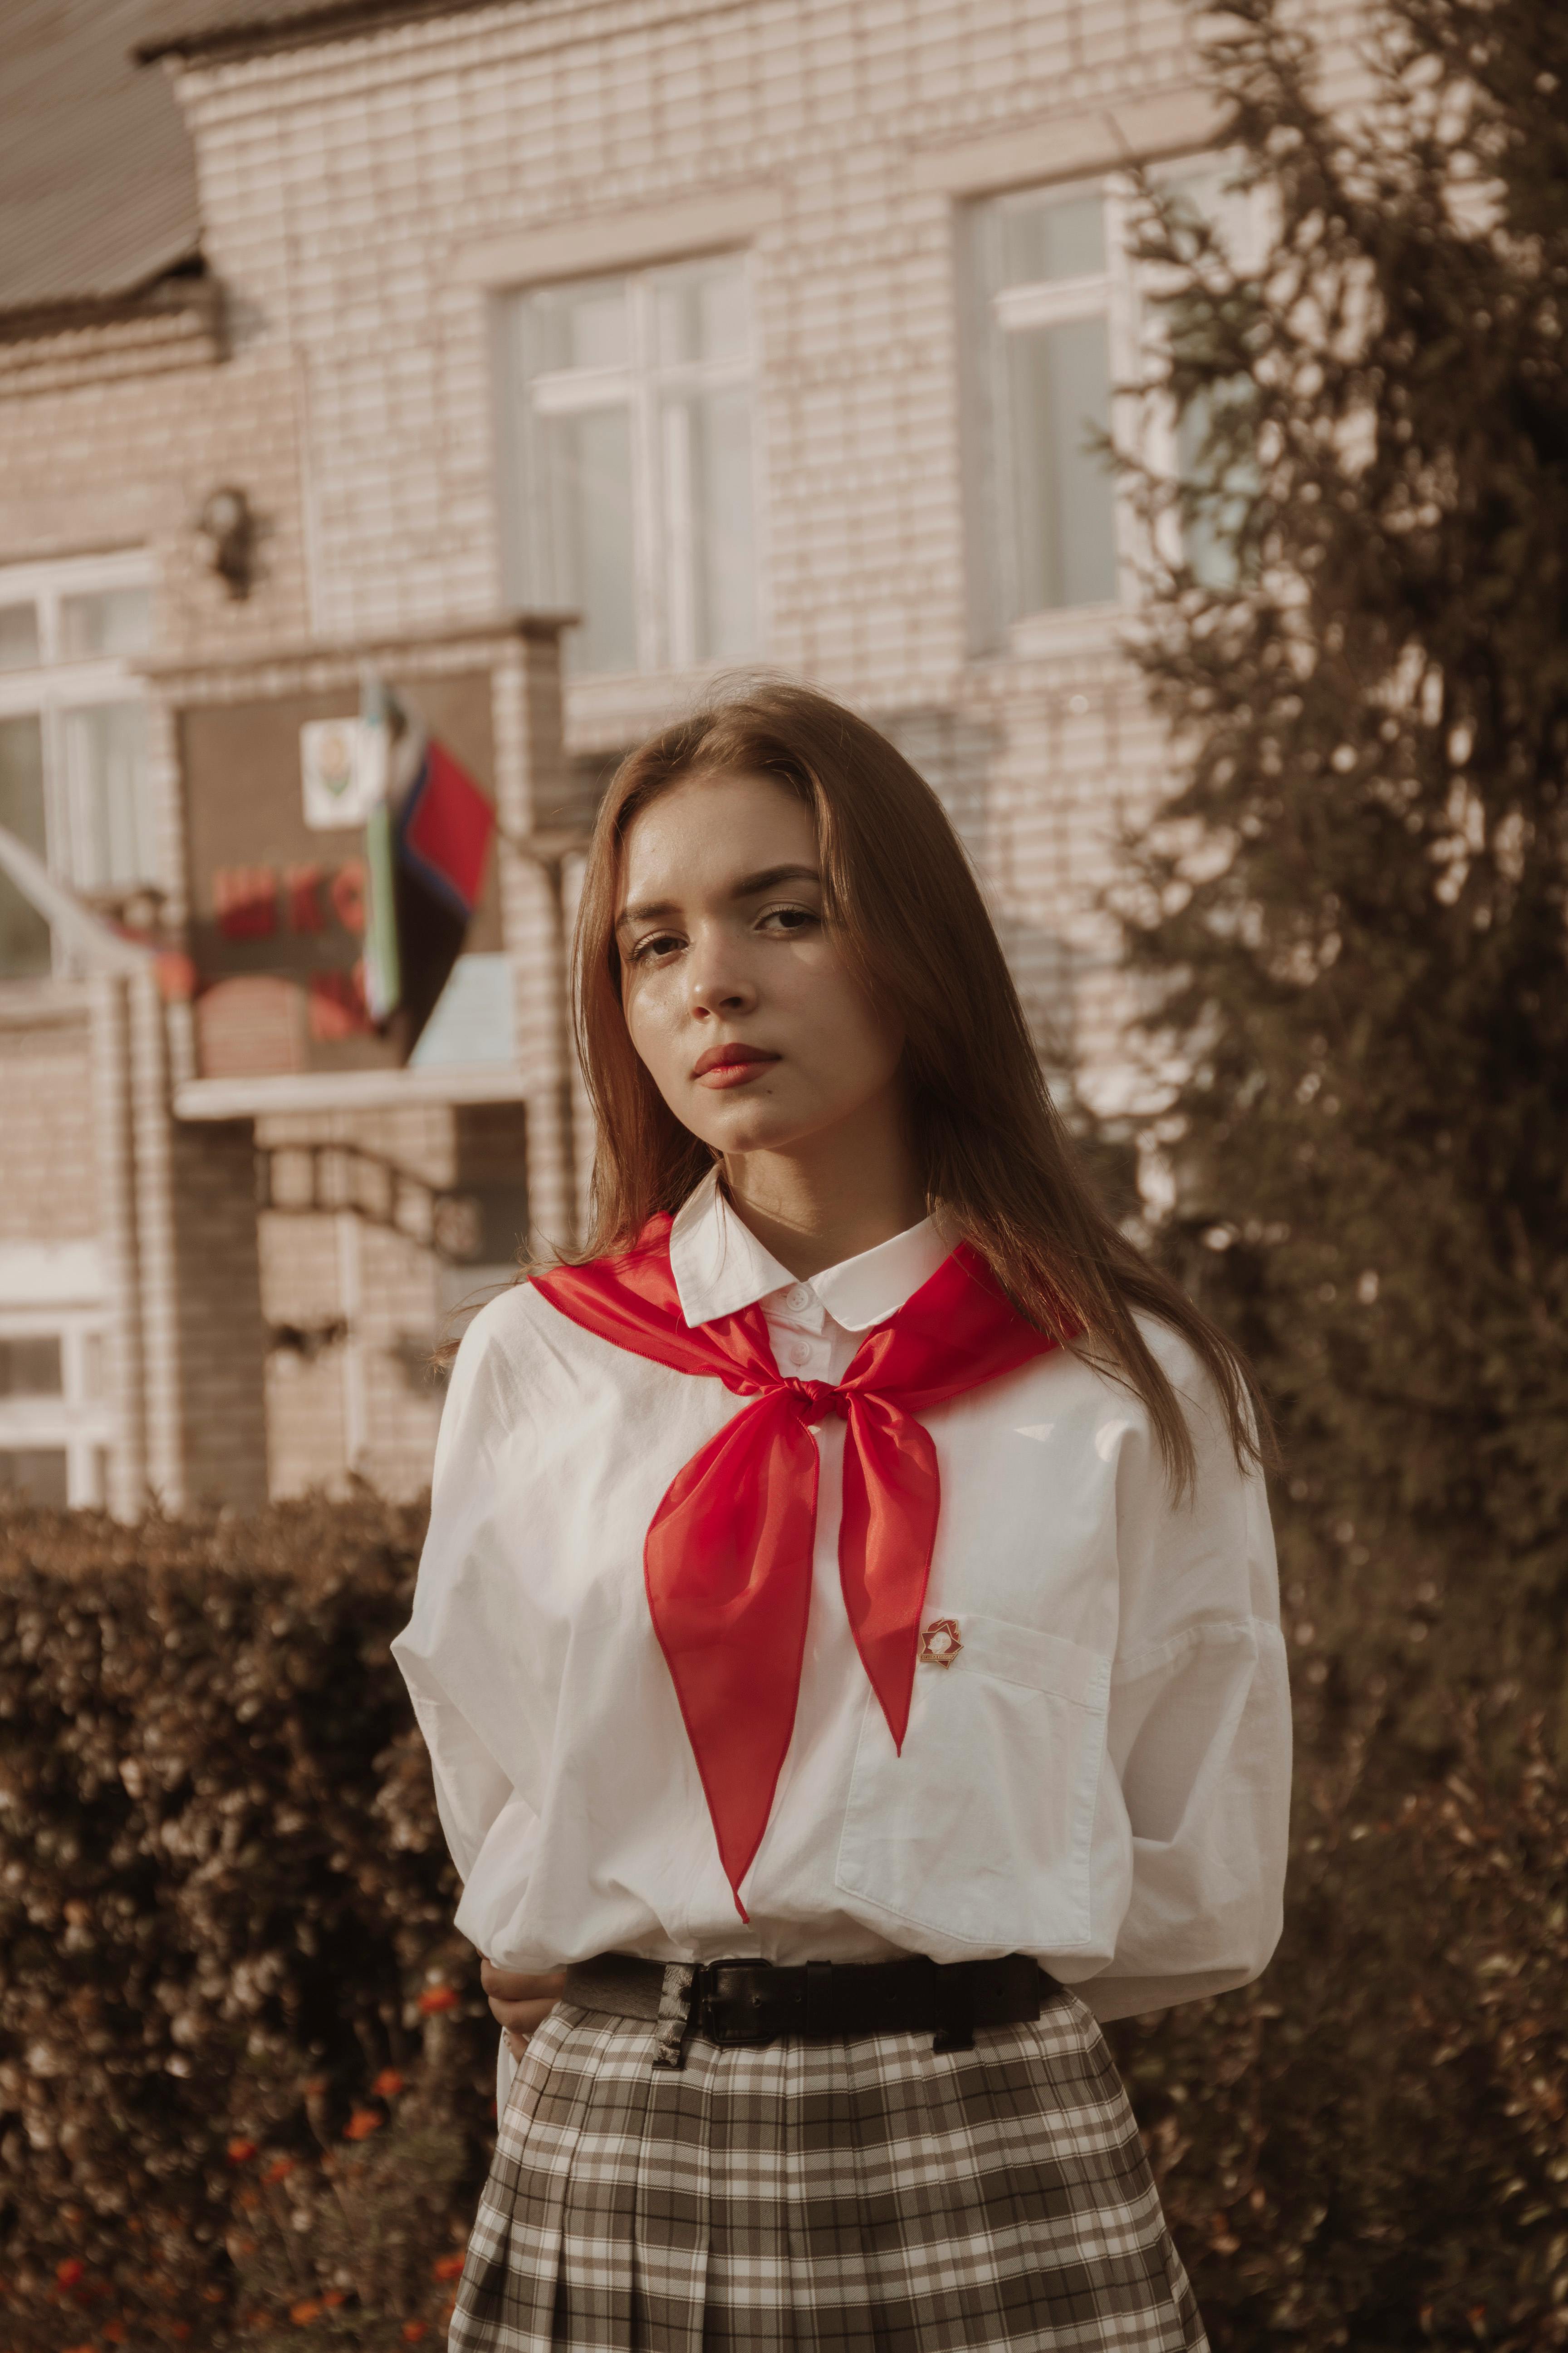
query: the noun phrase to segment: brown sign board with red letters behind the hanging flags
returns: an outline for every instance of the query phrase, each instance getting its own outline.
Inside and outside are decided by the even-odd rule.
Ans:
[[[494,793],[489,671],[390,685]],[[364,1012],[355,689],[193,704],[179,725],[202,1078],[397,1068]],[[501,948],[494,859],[465,948]]]

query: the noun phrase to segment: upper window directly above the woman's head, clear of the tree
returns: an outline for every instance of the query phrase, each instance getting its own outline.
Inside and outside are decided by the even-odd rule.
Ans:
[[[569,673],[750,654],[757,635],[745,259],[508,296],[508,569],[581,612]]]

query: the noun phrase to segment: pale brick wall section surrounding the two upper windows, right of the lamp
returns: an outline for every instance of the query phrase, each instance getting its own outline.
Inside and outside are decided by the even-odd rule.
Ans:
[[[529,238],[597,221],[614,266],[661,207],[708,195],[722,224],[773,191],[750,240],[757,659],[893,732],[943,711],[971,765],[985,741],[954,807],[1041,1038],[1065,1035],[1065,974],[1110,953],[1088,911],[1107,826],[1161,753],[1110,642],[969,654],[954,202],[1095,141],[1110,160],[1107,108],[1168,125],[1194,85],[1185,26],[1178,0],[534,0],[188,68],[240,348],[287,341],[308,386],[315,626],[498,607],[489,306],[508,254],[527,273]],[[614,751],[696,685],[574,682],[569,746]],[[1084,1005],[1079,1045],[1103,1026]]]

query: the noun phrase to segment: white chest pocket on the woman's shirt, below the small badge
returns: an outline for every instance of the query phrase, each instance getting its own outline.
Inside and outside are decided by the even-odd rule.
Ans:
[[[959,1640],[914,1668],[903,1755],[870,1699],[837,1885],[969,1944],[1086,1944],[1110,1659],[978,1612]]]

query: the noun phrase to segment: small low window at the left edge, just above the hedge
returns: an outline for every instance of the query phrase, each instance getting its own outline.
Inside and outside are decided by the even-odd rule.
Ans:
[[[0,1489],[33,1504],[103,1504],[113,1414],[89,1311],[0,1313]]]

